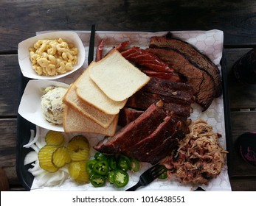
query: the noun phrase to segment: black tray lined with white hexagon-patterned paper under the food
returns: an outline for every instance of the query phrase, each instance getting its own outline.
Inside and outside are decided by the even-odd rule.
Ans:
[[[44,33],[38,32],[37,35]],[[122,43],[125,40],[128,40],[131,43],[131,46],[140,46],[142,49],[146,48],[149,44],[149,40],[152,36],[163,36],[167,32],[104,32],[99,31],[95,33],[95,47],[100,40],[104,40],[105,47],[104,52],[109,51],[113,46],[117,46],[119,43]],[[223,61],[223,32],[220,30],[210,30],[210,31],[175,31],[172,32],[174,36],[177,38],[181,38],[182,40],[186,40],[188,43],[191,43],[193,46],[201,51],[203,54],[206,54],[212,60],[215,65],[221,71],[222,79],[225,82],[225,74],[224,74],[224,65]],[[86,54],[88,54],[89,50],[89,38],[90,32],[87,31],[77,31],[77,35],[79,35],[80,39],[83,41],[83,46],[85,48]],[[94,49],[95,51],[96,49]],[[104,53],[103,52],[103,53]],[[79,75],[86,68],[87,64],[87,56],[84,65],[75,73],[70,74],[69,76],[57,79],[59,82],[64,82],[66,84],[70,84],[79,77]],[[20,95],[22,95],[25,85],[29,79],[25,78],[21,74],[21,87],[20,87]],[[225,84],[224,84],[225,85]],[[201,112],[201,107],[197,104],[193,104],[193,113],[190,118],[195,120],[197,118],[202,118],[207,121],[213,127],[215,132],[218,132],[222,135],[220,138],[221,146],[223,146],[226,150],[228,150],[228,141],[226,134],[229,132],[229,119],[226,115],[227,105],[225,99],[226,93],[224,88],[224,94],[221,97],[214,99],[210,107],[204,112]],[[17,172],[21,181],[24,184],[24,187],[30,191],[125,191],[125,189],[131,187],[139,180],[139,175],[145,171],[150,165],[148,163],[142,163],[142,168],[136,174],[130,174],[130,181],[125,188],[114,188],[113,185],[105,185],[103,188],[94,188],[90,184],[86,185],[77,185],[71,180],[67,180],[63,182],[62,185],[54,186],[54,187],[41,187],[38,185],[37,180],[34,179],[32,174],[27,171],[30,166],[24,166],[24,157],[30,149],[24,148],[24,144],[26,144],[30,140],[30,132],[31,129],[36,130],[34,124],[31,124],[29,121],[25,120],[21,116],[18,116],[18,144],[17,144]],[[37,131],[39,135],[44,136],[46,133],[46,129],[39,128]],[[70,134],[69,134],[70,135]],[[98,141],[100,141],[103,136],[102,135],[93,135],[93,134],[85,134],[91,145],[95,145]],[[91,149],[91,156],[94,154],[94,149]],[[140,190],[143,191],[191,191],[195,189],[195,187],[200,186],[204,188],[206,191],[230,191],[230,183],[229,183],[229,175],[228,175],[228,163],[224,166],[221,174],[211,180],[207,185],[182,185],[177,180],[156,180],[148,185],[145,188]]]

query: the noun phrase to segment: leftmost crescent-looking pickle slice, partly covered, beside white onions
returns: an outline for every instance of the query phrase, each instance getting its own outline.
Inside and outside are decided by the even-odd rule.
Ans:
[[[41,168],[49,172],[58,171],[58,168],[52,163],[52,154],[57,148],[57,146],[46,145],[39,150],[38,160]]]

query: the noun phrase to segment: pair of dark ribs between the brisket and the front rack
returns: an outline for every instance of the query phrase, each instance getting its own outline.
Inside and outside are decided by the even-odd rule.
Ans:
[[[146,110],[151,104],[162,100],[165,110],[184,119],[190,116],[193,102],[193,88],[183,82],[151,78],[147,85],[137,91],[126,102],[126,107]],[[122,117],[121,113],[121,117]]]

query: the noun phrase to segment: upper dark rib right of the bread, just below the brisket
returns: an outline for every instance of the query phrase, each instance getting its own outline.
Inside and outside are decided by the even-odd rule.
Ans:
[[[170,96],[174,99],[193,103],[193,88],[187,83],[173,82],[166,79],[151,78],[142,90],[148,93],[156,93],[162,96]]]

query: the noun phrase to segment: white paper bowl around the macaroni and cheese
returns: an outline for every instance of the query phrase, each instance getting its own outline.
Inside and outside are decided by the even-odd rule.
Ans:
[[[63,38],[63,40],[66,40],[68,43],[73,43],[75,47],[77,47],[78,49],[77,63],[74,65],[74,68],[72,69],[72,71],[69,71],[65,74],[59,74],[54,77],[40,76],[32,69],[29,49],[34,45],[34,43],[37,40],[55,39],[55,38]],[[77,71],[77,69],[83,65],[86,59],[85,53],[86,51],[84,49],[83,42],[79,38],[76,32],[48,32],[42,35],[37,35],[32,38],[28,38],[27,40],[24,40],[24,41],[21,41],[21,43],[18,43],[18,63],[20,65],[21,72],[24,75],[24,77],[28,77],[30,79],[58,79],[61,77],[65,77],[66,75],[69,75],[74,71]]]

